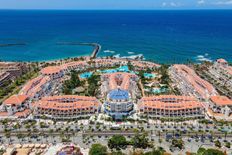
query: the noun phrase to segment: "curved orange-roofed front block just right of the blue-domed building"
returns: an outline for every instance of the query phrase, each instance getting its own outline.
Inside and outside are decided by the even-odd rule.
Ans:
[[[189,119],[204,117],[202,103],[189,96],[143,97],[138,102],[138,112],[141,116],[149,118]]]

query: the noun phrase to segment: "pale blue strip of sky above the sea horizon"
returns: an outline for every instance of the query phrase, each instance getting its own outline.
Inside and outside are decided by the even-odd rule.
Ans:
[[[232,0],[0,0],[0,9],[232,9]]]

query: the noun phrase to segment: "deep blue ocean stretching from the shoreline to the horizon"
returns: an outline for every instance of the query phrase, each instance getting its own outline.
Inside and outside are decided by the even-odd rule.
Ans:
[[[45,61],[90,55],[158,63],[232,61],[232,10],[0,10],[0,60]],[[8,46],[7,46],[8,45]]]

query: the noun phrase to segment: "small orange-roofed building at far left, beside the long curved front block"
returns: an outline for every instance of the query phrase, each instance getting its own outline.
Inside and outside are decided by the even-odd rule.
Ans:
[[[29,115],[30,102],[26,95],[13,95],[3,101],[0,116],[26,117]]]

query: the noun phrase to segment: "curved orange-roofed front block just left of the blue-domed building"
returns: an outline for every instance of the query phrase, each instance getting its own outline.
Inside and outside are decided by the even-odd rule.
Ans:
[[[89,117],[100,111],[101,103],[95,97],[48,96],[32,104],[35,117],[65,120]]]

